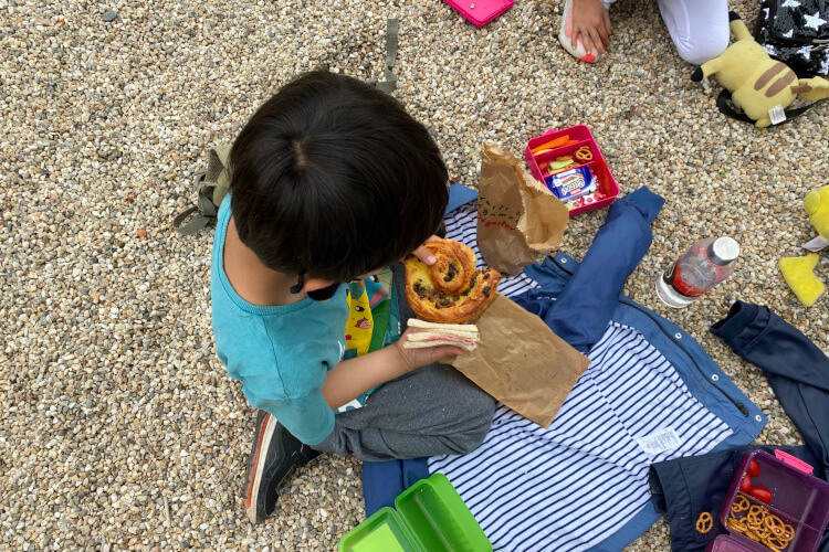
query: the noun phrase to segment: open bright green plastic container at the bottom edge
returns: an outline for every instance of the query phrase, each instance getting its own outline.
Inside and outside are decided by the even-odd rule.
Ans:
[[[339,541],[339,552],[491,552],[492,544],[443,474],[421,479]]]

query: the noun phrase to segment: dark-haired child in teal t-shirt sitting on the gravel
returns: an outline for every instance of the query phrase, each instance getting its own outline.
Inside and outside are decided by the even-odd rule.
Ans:
[[[249,519],[270,516],[282,482],[323,452],[387,460],[476,448],[494,403],[436,363],[461,350],[402,348],[398,320],[412,315],[400,265],[367,277],[441,224],[448,173],[427,129],[377,88],[317,71],[251,117],[230,166],[211,302],[218,355],[260,408]]]

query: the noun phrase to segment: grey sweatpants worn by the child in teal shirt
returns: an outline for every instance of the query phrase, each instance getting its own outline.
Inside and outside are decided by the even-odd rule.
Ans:
[[[405,330],[414,315],[401,265],[392,270]],[[313,448],[360,460],[466,454],[483,443],[494,410],[492,397],[454,368],[429,364],[385,383],[361,408],[337,414],[334,432]]]

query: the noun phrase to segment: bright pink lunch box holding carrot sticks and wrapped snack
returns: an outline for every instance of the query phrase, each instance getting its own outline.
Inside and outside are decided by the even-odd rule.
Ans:
[[[576,144],[562,146],[559,148],[553,148],[549,151],[533,155],[532,150],[534,148],[564,135],[569,136],[570,140],[576,140]],[[533,174],[533,177],[535,177],[536,180],[544,183],[544,174],[538,168],[539,163],[554,161],[557,157],[560,156],[571,156],[576,152],[577,149],[583,146],[587,146],[588,148],[590,148],[590,152],[592,153],[592,160],[584,164],[587,164],[590,170],[597,176],[599,180],[599,192],[601,192],[602,197],[598,200],[594,200],[591,195],[586,195],[585,198],[579,198],[578,200],[576,200],[576,208],[570,209],[570,219],[581,213],[587,213],[588,211],[595,211],[597,209],[607,206],[612,203],[619,195],[619,184],[616,183],[613,173],[610,172],[610,169],[605,162],[605,157],[601,155],[601,150],[599,150],[599,146],[596,144],[592,134],[590,134],[590,129],[585,125],[576,125],[575,127],[568,127],[562,130],[547,130],[542,136],[531,138],[527,142],[527,148],[524,151],[524,159],[527,160],[529,172]]]

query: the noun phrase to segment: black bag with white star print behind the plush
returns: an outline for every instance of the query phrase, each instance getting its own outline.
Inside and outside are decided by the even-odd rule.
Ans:
[[[755,36],[800,78],[829,75],[829,0],[763,0]]]

